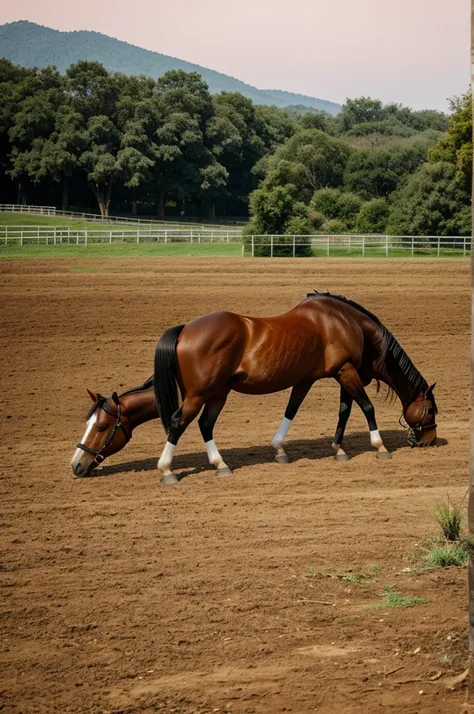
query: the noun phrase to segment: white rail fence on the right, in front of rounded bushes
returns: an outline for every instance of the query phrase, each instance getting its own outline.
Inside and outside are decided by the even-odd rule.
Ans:
[[[445,255],[470,253],[471,236],[254,235],[246,239],[252,257]]]

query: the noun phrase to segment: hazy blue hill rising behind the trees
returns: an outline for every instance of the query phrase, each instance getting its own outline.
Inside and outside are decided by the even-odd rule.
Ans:
[[[341,109],[340,104],[304,94],[257,89],[221,72],[88,30],[60,32],[27,21],[0,25],[0,57],[23,67],[47,67],[54,64],[60,72],[65,72],[69,65],[79,60],[96,60],[113,72],[145,74],[154,78],[161,77],[170,69],[182,69],[185,72],[199,72],[213,94],[223,91],[241,92],[255,104],[277,107],[300,104],[329,114],[338,114]]]

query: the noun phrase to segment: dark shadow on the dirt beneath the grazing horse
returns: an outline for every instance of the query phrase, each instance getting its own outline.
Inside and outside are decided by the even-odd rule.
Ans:
[[[400,431],[399,429],[384,430],[382,432],[382,438],[385,446],[391,453],[402,448],[408,448],[406,432]],[[447,443],[448,441],[446,439],[438,438],[437,444],[433,448],[437,449],[446,446]],[[288,441],[285,444],[285,449],[292,462],[299,461],[300,459],[317,461],[334,456],[334,451],[331,448],[331,439],[328,437]],[[375,450],[370,446],[369,435],[366,431],[347,435],[344,438],[344,450],[351,457],[358,456],[366,451],[372,451],[375,460]],[[88,478],[112,476],[113,474],[131,471],[158,471],[157,461],[159,453],[159,449],[157,449],[157,453],[153,458],[124,461],[114,466],[103,466],[100,471],[94,471]],[[220,449],[220,453],[224,461],[233,471],[243,466],[274,463],[275,456],[275,450],[271,445]],[[178,452],[173,459],[174,470],[179,471],[180,469],[186,469],[184,473],[177,474],[179,480],[209,468],[212,469],[213,467],[210,467],[207,463],[204,445],[202,451],[189,454],[180,454]]]

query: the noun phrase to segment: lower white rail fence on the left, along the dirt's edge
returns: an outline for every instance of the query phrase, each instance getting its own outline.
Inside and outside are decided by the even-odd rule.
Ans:
[[[56,226],[0,226],[6,245],[89,245],[91,243],[241,243],[241,236],[220,228],[123,228],[75,230]]]

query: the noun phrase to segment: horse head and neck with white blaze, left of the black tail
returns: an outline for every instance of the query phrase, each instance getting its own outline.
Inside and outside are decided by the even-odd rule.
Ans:
[[[87,415],[87,428],[71,461],[75,476],[88,476],[108,456],[123,449],[140,424],[160,416],[153,389],[153,377],[120,396],[91,392],[94,402]]]

